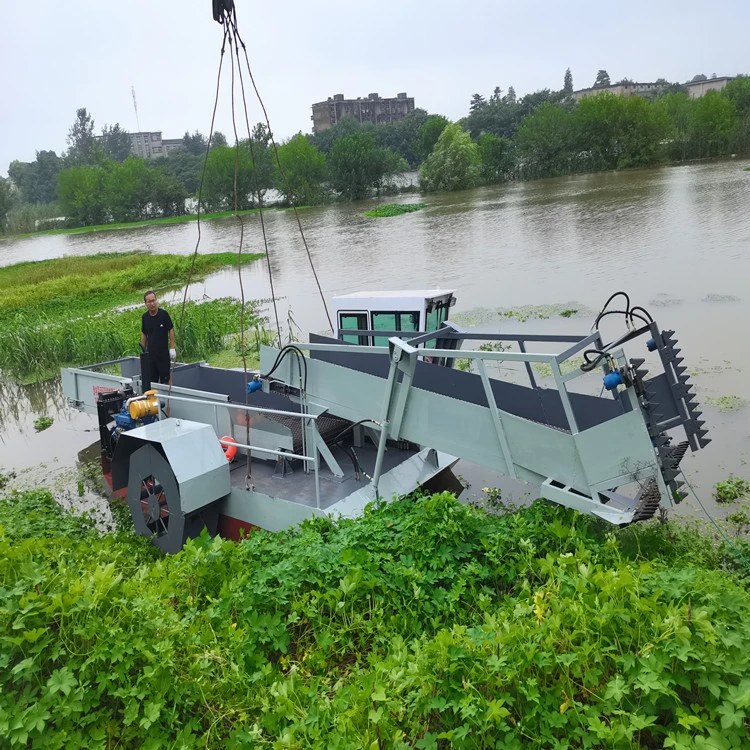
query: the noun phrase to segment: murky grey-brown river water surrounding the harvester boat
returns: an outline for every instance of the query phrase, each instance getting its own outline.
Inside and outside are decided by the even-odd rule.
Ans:
[[[730,472],[750,479],[750,171],[748,161],[579,175],[466,192],[409,195],[412,214],[372,219],[369,200],[299,212],[324,296],[362,289],[453,289],[462,323],[502,322],[498,310],[552,306],[522,330],[585,334],[614,291],[627,291],[662,329],[675,329],[713,442],[684,468],[707,500]],[[302,334],[328,328],[290,211],[264,214],[280,318]],[[245,249],[262,252],[257,215],[244,217]],[[238,223],[202,223],[199,252],[237,251]],[[0,265],[62,255],[149,250],[190,254],[195,223],[0,243]],[[271,296],[265,261],[243,272],[246,298]],[[236,270],[195,284],[190,297],[239,296]],[[181,293],[167,297],[176,304]],[[577,309],[570,319],[555,314]],[[267,306],[267,312],[272,314]],[[550,310],[546,310],[550,312]],[[613,329],[613,333],[614,333]],[[639,356],[631,354],[631,356]],[[726,398],[736,397],[736,398]],[[731,407],[731,408],[727,408]],[[91,443],[93,419],[71,413],[59,387],[0,386],[0,472],[67,468]],[[35,433],[36,416],[55,424]],[[43,478],[43,477],[42,477]],[[472,481],[485,479],[474,474]],[[685,505],[692,503],[686,501]]]

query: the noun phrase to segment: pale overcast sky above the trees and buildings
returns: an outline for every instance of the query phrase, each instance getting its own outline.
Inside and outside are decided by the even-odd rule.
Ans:
[[[474,92],[559,89],[567,67],[575,88],[600,68],[613,82],[750,72],[748,0],[236,2],[278,139],[310,132],[310,105],[336,93],[406,91],[455,120]],[[97,132],[137,130],[131,86],[142,130],[207,134],[221,37],[211,0],[0,0],[0,174],[37,150],[63,151],[78,107]],[[250,118],[261,119],[255,100]],[[230,136],[228,86],[216,127]]]

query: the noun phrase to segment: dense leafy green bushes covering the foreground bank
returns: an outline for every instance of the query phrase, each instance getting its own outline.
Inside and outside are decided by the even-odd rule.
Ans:
[[[750,597],[671,524],[443,494],[162,558],[60,517],[0,501],[11,747],[750,742]]]

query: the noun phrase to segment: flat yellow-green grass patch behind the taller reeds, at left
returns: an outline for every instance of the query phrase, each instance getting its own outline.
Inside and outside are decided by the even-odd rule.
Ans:
[[[252,263],[262,257],[248,253],[242,260]],[[140,303],[148,289],[181,287],[191,263],[191,256],[131,252],[54,258],[0,268],[0,323],[15,325],[19,316],[72,319]],[[199,254],[193,280],[236,264],[234,253]]]

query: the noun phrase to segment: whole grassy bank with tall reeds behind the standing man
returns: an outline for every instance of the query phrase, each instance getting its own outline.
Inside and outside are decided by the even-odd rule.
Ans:
[[[250,263],[261,255],[244,255]],[[54,376],[60,367],[92,364],[139,351],[142,295],[179,288],[192,258],[147,253],[100,254],[19,263],[0,268],[0,369],[29,382]],[[235,266],[234,253],[198,255],[193,280]],[[117,310],[136,304],[135,309]],[[179,309],[171,310],[179,328]],[[262,330],[256,308],[245,309],[248,343]],[[183,361],[207,359],[235,348],[240,303],[211,300],[185,308],[183,330],[176,330]],[[239,348],[239,347],[237,347]],[[237,355],[239,356],[239,355]]]

